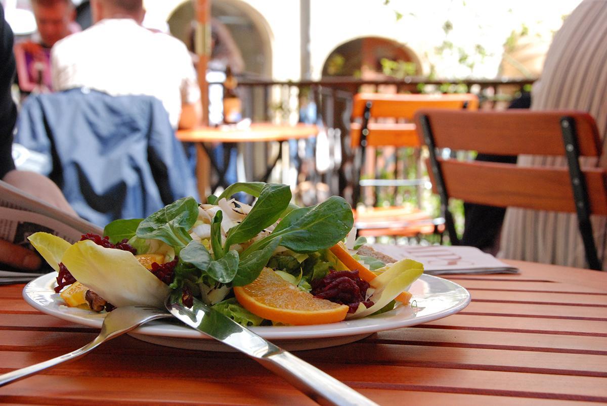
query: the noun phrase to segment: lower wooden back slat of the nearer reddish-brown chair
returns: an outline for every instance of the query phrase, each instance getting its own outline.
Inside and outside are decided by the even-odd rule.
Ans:
[[[575,212],[571,180],[566,167],[521,167],[455,160],[439,160],[439,163],[450,197],[481,205]],[[429,173],[432,184],[435,185],[432,171]],[[589,168],[583,174],[591,213],[606,215],[605,171]]]

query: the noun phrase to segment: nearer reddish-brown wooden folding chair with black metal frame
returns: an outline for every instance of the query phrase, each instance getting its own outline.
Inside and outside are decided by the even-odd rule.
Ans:
[[[592,269],[601,269],[592,237],[591,214],[607,215],[606,173],[580,168],[579,157],[600,157],[602,144],[594,119],[571,110],[544,112],[459,112],[420,110],[420,141],[427,144],[433,188],[441,197],[447,232],[458,239],[447,209],[450,197],[490,206],[515,206],[577,213]],[[558,155],[568,167],[458,161],[439,157],[436,149],[502,155]]]

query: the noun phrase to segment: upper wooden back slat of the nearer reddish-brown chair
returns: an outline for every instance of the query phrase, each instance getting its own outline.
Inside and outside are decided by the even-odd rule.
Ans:
[[[587,113],[572,110],[468,112],[420,110],[429,118],[438,148],[498,155],[564,155],[561,117],[572,117],[578,132],[580,156],[599,157],[599,131]],[[456,136],[455,136],[456,135]],[[421,137],[421,132],[419,132]]]

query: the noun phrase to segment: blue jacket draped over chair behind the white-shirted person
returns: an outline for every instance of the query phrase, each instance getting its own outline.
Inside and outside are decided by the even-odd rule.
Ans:
[[[89,89],[31,95],[16,141],[52,160],[49,177],[78,215],[99,226],[197,197],[183,146],[152,96]]]

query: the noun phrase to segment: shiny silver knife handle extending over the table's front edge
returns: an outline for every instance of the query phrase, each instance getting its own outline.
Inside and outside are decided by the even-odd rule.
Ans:
[[[282,376],[291,385],[321,405],[378,406],[348,385],[288,351],[280,350],[263,357],[256,357],[254,360]]]

